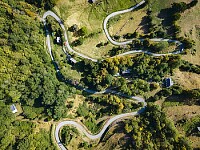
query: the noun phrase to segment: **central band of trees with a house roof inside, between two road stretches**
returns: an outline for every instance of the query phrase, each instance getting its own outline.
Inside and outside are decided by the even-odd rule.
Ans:
[[[81,62],[84,73],[82,82],[89,88],[97,90],[115,87],[121,91],[127,91],[126,93],[132,91],[130,94],[141,94],[150,90],[147,81],[161,81],[180,64],[181,57],[179,55],[151,57],[138,54],[136,57],[107,58],[99,63],[84,60]],[[123,71],[128,70],[128,74],[123,74]],[[137,90],[141,90],[141,92],[134,93]]]

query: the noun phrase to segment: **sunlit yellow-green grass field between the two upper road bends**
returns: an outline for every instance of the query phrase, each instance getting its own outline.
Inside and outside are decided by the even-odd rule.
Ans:
[[[108,51],[113,47],[111,44],[101,48],[96,47],[100,42],[107,42],[107,38],[103,32],[103,20],[105,17],[114,11],[134,6],[136,2],[140,1],[99,0],[97,3],[89,4],[88,0],[64,0],[59,1],[54,10],[64,20],[66,27],[70,27],[73,24],[77,24],[80,28],[87,27],[88,34],[98,33],[100,31],[95,36],[85,39],[83,45],[74,48],[78,52],[98,59],[106,57]],[[121,24],[118,26],[120,27]],[[132,30],[132,27],[127,27],[127,30]],[[68,34],[70,42],[76,39],[71,33]]]

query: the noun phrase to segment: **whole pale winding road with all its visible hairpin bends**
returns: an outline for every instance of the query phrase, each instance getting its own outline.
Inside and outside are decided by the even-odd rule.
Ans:
[[[107,30],[107,23],[109,21],[109,19],[111,17],[114,17],[116,15],[120,15],[120,14],[123,14],[123,13],[127,13],[127,12],[131,12],[133,11],[134,9],[136,9],[137,7],[141,6],[142,4],[144,4],[145,1],[142,0],[140,3],[138,3],[137,5],[129,8],[129,9],[126,9],[126,10],[122,10],[122,11],[117,11],[117,12],[114,12],[114,13],[111,13],[110,15],[108,15],[104,22],[103,22],[103,28],[104,28],[104,32],[108,38],[108,40],[114,44],[114,45],[126,45],[126,44],[130,44],[132,42],[132,40],[130,41],[125,41],[125,42],[117,42],[117,41],[114,41],[108,30]],[[67,37],[67,33],[66,33],[66,30],[65,30],[65,27],[64,27],[64,24],[62,22],[62,20],[55,14],[53,13],[52,11],[47,11],[44,13],[43,15],[43,23],[44,23],[44,27],[45,27],[45,31],[46,31],[46,45],[47,45],[47,48],[48,48],[48,51],[49,51],[49,54],[50,54],[50,57],[52,59],[52,61],[55,61],[54,60],[54,57],[52,55],[52,49],[51,49],[51,43],[50,43],[50,36],[49,36],[49,31],[46,27],[46,17],[47,16],[52,16],[53,18],[55,18],[58,23],[60,24],[62,30],[63,30],[63,33],[64,33],[64,38],[65,38],[65,46],[67,47],[67,49],[75,54],[77,54],[78,56],[82,57],[82,58],[85,58],[85,59],[89,59],[91,61],[94,61],[94,62],[97,62],[97,59],[93,59],[93,58],[90,58],[86,55],[83,55],[79,52],[76,52],[75,50],[73,50],[73,48],[70,46],[69,44],[69,41],[68,41],[68,37]],[[143,39],[140,39],[140,40],[143,40]],[[131,53],[140,53],[140,52],[143,52],[143,53],[147,53],[149,55],[153,55],[153,56],[163,56],[163,55],[169,55],[169,54],[179,54],[183,51],[183,46],[182,46],[182,43],[179,42],[179,41],[176,41],[176,40],[170,40],[170,39],[161,39],[161,38],[155,38],[155,39],[150,39],[151,41],[155,41],[155,42],[160,42],[160,41],[168,41],[168,42],[175,42],[176,44],[178,44],[180,46],[180,50],[179,51],[176,51],[176,52],[173,52],[173,53],[168,53],[168,54],[154,54],[154,53],[151,53],[151,52],[148,52],[148,51],[144,51],[144,50],[133,50],[133,51],[129,51],[129,52],[125,52],[125,53],[122,53],[122,54],[119,54],[119,55],[116,55],[116,56],[124,56],[124,55],[129,55]],[[66,53],[66,51],[65,51]],[[66,53],[67,54],[67,53]],[[59,71],[59,69],[57,70]],[[93,93],[93,94],[100,94],[100,93],[113,93],[113,94],[117,94],[119,96],[125,96],[125,97],[128,97],[127,95],[125,94],[122,94],[120,92],[116,92],[116,91],[113,91],[113,90],[105,90],[105,91],[102,91],[102,92],[97,92],[97,91],[93,91],[93,90],[90,90],[90,89],[85,89],[85,88],[82,88],[82,90],[86,91],[86,92],[89,92],[89,93]],[[96,135],[93,135],[91,133],[89,133],[85,126],[79,124],[78,122],[75,122],[75,121],[63,121],[63,122],[60,122],[57,127],[56,127],[56,130],[55,130],[55,139],[56,139],[56,142],[57,144],[59,145],[59,147],[62,149],[62,150],[66,150],[66,148],[64,147],[64,145],[61,143],[60,141],[60,138],[59,138],[59,131],[60,129],[65,126],[65,125],[72,125],[74,127],[76,127],[80,132],[84,133],[88,138],[94,140],[94,139],[99,139],[101,138],[101,136],[103,135],[103,133],[106,131],[106,129],[116,120],[120,119],[120,118],[124,118],[124,117],[128,117],[128,116],[135,116],[135,115],[138,115],[140,113],[142,113],[144,110],[145,110],[145,107],[146,107],[146,102],[143,98],[140,98],[140,97],[136,97],[136,96],[132,96],[132,97],[129,97],[130,99],[134,99],[138,102],[141,102],[143,103],[143,107],[139,110],[139,111],[136,111],[136,112],[131,112],[131,113],[124,113],[124,114],[120,114],[120,115],[116,115],[116,116],[113,116],[111,117],[106,123],[105,125],[103,126],[102,130],[96,134]]]

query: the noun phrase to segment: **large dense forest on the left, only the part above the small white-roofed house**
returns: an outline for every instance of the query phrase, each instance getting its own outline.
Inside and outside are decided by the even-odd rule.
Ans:
[[[12,7],[11,1],[0,4],[0,99],[7,104],[44,107],[50,117],[61,118],[64,100],[75,90],[56,77],[44,51],[37,8],[22,1],[13,2]]]

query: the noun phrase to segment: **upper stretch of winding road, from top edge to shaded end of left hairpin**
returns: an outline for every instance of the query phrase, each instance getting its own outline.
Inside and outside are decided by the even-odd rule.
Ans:
[[[144,4],[145,1],[141,1],[140,3],[138,3],[137,5],[129,8],[129,9],[126,9],[126,10],[122,10],[122,11],[117,11],[117,12],[114,12],[114,13],[111,13],[110,15],[108,15],[104,22],[103,22],[103,30],[105,32],[105,35],[106,37],[108,38],[108,40],[114,44],[114,45],[127,45],[127,44],[130,44],[132,43],[133,39],[132,40],[129,40],[129,41],[124,41],[124,42],[118,42],[118,41],[114,41],[109,32],[108,32],[108,29],[107,29],[107,24],[108,24],[108,21],[110,20],[110,18],[116,16],[116,15],[120,15],[120,14],[123,14],[123,13],[127,13],[127,12],[131,12],[133,11],[134,9],[136,9],[137,7],[141,6],[142,4]],[[91,57],[88,57],[84,54],[81,54],[77,51],[75,51],[69,44],[69,40],[68,40],[68,36],[67,36],[67,33],[66,33],[66,29],[65,29],[65,26],[63,24],[63,21],[52,11],[47,11],[44,13],[43,15],[43,23],[44,23],[44,26],[45,26],[45,30],[46,30],[46,44],[48,46],[48,50],[49,50],[49,54],[51,56],[51,59],[54,60],[54,57],[52,55],[52,49],[51,49],[51,44],[50,44],[50,36],[49,36],[49,32],[48,32],[48,29],[46,27],[46,17],[47,16],[51,16],[53,18],[55,18],[57,20],[57,22],[60,24],[60,27],[62,28],[63,30],[63,33],[64,33],[64,38],[65,38],[65,46],[67,47],[67,49],[70,51],[70,52],[73,52],[75,54],[77,54],[78,56],[84,58],[84,59],[89,59],[93,62],[97,62],[98,60],[97,59],[94,59],[94,58],[91,58]],[[143,41],[144,39],[140,39],[141,41]],[[174,42],[178,45],[182,45],[182,43],[180,41],[177,41],[177,40],[171,40],[171,39],[163,39],[163,38],[153,38],[153,39],[149,39],[150,41],[154,41],[154,42]],[[164,55],[171,55],[171,54],[179,54],[183,51],[182,49],[182,46],[180,46],[180,50],[179,51],[176,51],[176,52],[172,52],[172,53],[167,53],[167,54],[156,54],[156,53],[152,53],[152,52],[149,52],[149,51],[145,51],[145,50],[132,50],[132,51],[128,51],[128,52],[125,52],[125,53],[122,53],[122,54],[119,54],[119,55],[116,55],[116,56],[124,56],[124,55],[129,55],[129,54],[132,54],[132,53],[146,53],[146,54],[149,54],[149,55],[152,55],[152,56],[164,56]],[[114,56],[114,57],[116,57]]]

